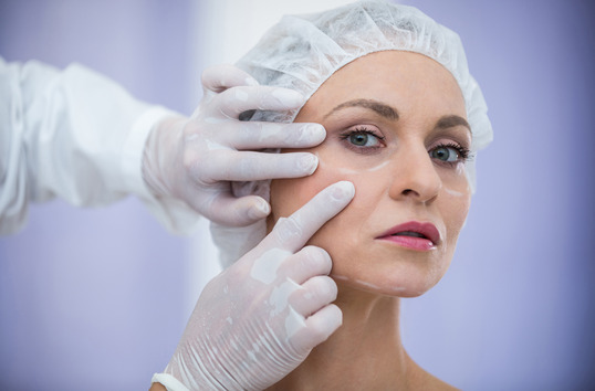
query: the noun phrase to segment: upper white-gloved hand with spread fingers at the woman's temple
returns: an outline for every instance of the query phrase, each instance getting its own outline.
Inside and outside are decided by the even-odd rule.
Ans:
[[[191,118],[167,118],[150,133],[143,176],[157,197],[185,201],[207,219],[242,226],[267,216],[269,203],[251,194],[236,198],[230,181],[296,178],[314,172],[317,158],[307,152],[265,154],[264,148],[307,148],[326,131],[319,124],[240,121],[251,109],[299,108],[304,97],[291,89],[259,86],[231,66],[202,74],[205,96]]]

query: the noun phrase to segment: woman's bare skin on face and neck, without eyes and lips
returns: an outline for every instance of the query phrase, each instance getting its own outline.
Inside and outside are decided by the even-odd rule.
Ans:
[[[273,180],[268,226],[333,182],[355,184],[351,204],[309,242],[333,260],[343,326],[271,389],[450,389],[405,352],[399,297],[427,292],[452,258],[471,196],[459,155],[471,145],[464,119],[452,75],[410,52],[361,57],[304,105],[295,121],[327,130],[322,145],[304,149],[319,156],[319,169]],[[421,251],[379,239],[410,221],[434,224],[440,240]]]

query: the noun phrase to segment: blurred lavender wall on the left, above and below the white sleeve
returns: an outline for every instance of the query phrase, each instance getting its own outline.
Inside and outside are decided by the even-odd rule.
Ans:
[[[190,1],[1,1],[0,55],[82,63],[140,99],[191,113]],[[197,72],[199,74],[199,72]],[[0,239],[2,390],[139,390],[165,368],[188,316],[188,240],[139,201],[31,208]]]

